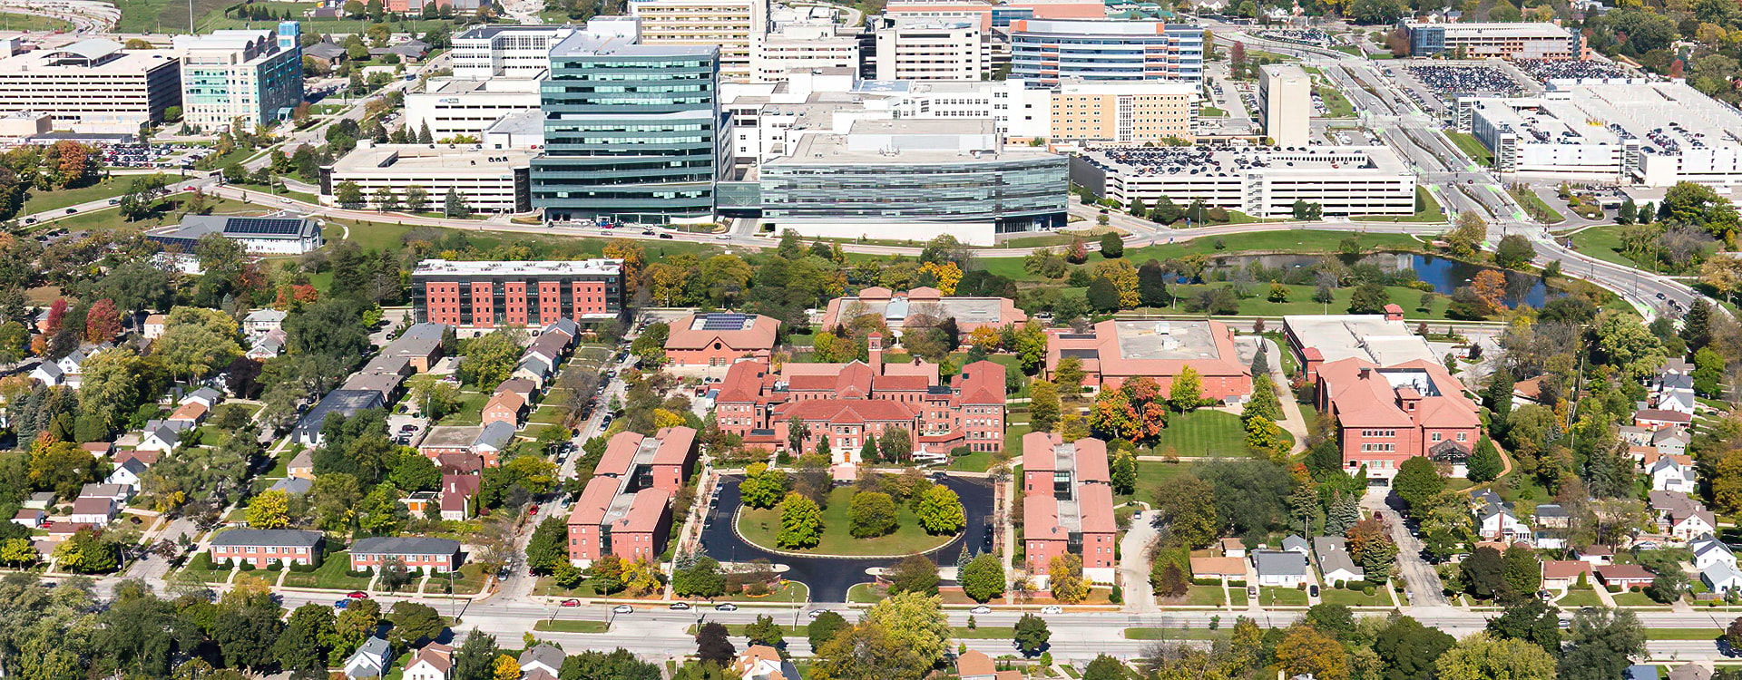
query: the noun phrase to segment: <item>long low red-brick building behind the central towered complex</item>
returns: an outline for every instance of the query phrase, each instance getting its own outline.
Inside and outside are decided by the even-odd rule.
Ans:
[[[930,327],[953,318],[963,337],[982,327],[998,330],[1005,325],[1028,322],[1028,313],[1009,297],[944,296],[927,285],[899,292],[873,285],[859,290],[857,297],[831,299],[829,308],[822,313],[820,327],[834,329],[866,315],[880,317],[895,337],[906,334],[909,320],[915,322],[915,327]]]

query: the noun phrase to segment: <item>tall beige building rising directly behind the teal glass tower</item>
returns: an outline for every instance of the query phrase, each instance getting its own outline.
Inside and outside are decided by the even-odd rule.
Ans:
[[[768,0],[638,0],[643,45],[719,47],[719,80],[749,82],[756,43],[768,33]]]

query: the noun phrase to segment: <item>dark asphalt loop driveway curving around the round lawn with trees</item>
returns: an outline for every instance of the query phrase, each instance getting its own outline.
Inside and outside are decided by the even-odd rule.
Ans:
[[[787,567],[782,574],[787,581],[800,581],[810,588],[812,602],[847,602],[847,590],[859,583],[873,581],[866,569],[890,567],[894,558],[852,558],[822,555],[784,555],[753,546],[732,530],[739,513],[739,482],[742,477],[730,475],[719,483],[719,499],[707,510],[707,523],[702,530],[702,551],[719,562],[768,560]],[[986,523],[991,522],[991,483],[979,478],[946,477],[942,485],[962,497],[962,510],[967,515],[963,536],[932,551],[932,562],[941,567],[953,567],[963,546],[982,546],[986,541]]]

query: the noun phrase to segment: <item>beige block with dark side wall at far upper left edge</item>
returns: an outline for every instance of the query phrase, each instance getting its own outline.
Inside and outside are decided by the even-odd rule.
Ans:
[[[99,38],[0,50],[0,113],[47,113],[56,129],[73,132],[139,132],[171,106],[181,106],[181,63],[171,50],[122,50]]]

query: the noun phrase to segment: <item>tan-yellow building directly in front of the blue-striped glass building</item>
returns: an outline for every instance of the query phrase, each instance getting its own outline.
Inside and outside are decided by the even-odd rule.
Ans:
[[[1064,82],[1052,92],[1054,141],[1193,141],[1198,85],[1186,82]]]

